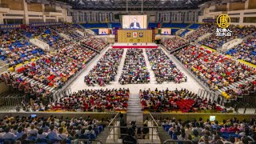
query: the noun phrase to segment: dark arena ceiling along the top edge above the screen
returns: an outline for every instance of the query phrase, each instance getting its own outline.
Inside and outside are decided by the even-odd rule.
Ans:
[[[210,0],[56,0],[78,10],[188,10]]]

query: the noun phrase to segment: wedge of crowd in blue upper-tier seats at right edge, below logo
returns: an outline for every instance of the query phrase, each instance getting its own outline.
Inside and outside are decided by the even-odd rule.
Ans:
[[[246,41],[234,46],[232,49],[226,51],[226,54],[230,54],[233,58],[242,59],[246,62],[250,62],[256,65],[256,34],[247,38]]]

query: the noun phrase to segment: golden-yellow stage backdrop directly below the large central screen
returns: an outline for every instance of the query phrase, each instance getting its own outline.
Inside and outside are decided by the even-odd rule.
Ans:
[[[154,42],[153,30],[117,30],[118,42]]]

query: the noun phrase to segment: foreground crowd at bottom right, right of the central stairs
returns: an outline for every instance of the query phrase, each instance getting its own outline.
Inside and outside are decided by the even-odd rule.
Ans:
[[[206,144],[249,144],[256,141],[256,121],[238,118],[203,121],[202,118],[188,121],[176,118],[164,118],[161,122],[173,140],[188,140],[193,143]]]

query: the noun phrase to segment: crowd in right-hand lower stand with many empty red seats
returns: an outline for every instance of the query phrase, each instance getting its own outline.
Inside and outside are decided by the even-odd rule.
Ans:
[[[200,46],[187,46],[174,55],[211,90],[218,90],[256,74],[256,69]]]

